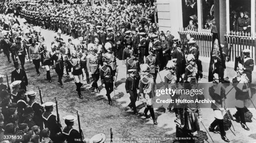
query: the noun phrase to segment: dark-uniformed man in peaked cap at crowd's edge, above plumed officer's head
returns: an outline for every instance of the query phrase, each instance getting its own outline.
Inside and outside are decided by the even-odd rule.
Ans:
[[[144,32],[140,33],[140,42],[138,44],[138,47],[139,47],[138,53],[139,53],[140,64],[144,63],[144,55],[145,55],[145,50],[147,48],[147,39],[145,38],[145,36],[146,36],[146,33],[144,33]]]

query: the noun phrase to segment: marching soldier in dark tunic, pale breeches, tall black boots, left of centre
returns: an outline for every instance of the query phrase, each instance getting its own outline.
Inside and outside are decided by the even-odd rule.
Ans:
[[[77,86],[77,92],[80,99],[83,99],[83,95],[81,94],[81,87],[83,85],[83,72],[81,68],[81,60],[80,60],[80,54],[76,53],[75,50],[71,51],[72,57],[70,58],[70,63],[73,67],[73,75],[75,79],[75,84]]]

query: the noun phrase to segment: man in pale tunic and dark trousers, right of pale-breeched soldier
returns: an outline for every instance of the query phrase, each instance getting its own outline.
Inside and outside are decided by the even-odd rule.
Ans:
[[[89,46],[88,46],[89,47]],[[90,48],[89,50],[89,55],[87,55],[87,69],[88,72],[92,73],[92,90],[97,91],[97,93],[100,93],[100,90],[98,88],[97,81],[100,78],[100,71],[99,71],[99,63],[98,63],[98,55],[97,55],[97,50],[94,48]]]

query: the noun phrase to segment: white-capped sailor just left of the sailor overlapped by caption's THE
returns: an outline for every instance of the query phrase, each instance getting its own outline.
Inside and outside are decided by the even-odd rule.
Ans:
[[[51,113],[55,105],[56,103],[53,102],[46,102],[42,104],[42,106],[45,108],[45,112],[42,114],[44,128],[49,128],[51,140],[54,140],[56,133],[61,132],[61,128],[57,123],[56,116]]]

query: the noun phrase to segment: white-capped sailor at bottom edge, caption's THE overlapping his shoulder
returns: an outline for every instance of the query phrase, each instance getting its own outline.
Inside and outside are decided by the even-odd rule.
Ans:
[[[73,129],[74,121],[77,120],[73,115],[67,115],[62,117],[65,120],[67,127],[63,129],[63,134],[66,138],[67,143],[82,143],[82,138],[79,137],[79,132]]]

